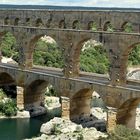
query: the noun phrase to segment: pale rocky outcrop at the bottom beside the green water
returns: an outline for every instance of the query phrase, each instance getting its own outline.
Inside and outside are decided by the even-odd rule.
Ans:
[[[32,140],[98,140],[100,137],[107,137],[96,128],[83,128],[70,120],[56,117],[43,124],[40,132],[41,136]]]

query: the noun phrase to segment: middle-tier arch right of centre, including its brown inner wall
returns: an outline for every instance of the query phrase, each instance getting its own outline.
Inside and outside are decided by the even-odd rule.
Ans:
[[[89,47],[90,44],[90,47]],[[96,49],[95,49],[96,48]],[[96,55],[95,52],[100,52],[101,50],[102,53],[105,53],[105,55],[100,59],[100,63],[98,64],[98,68],[95,69],[95,66],[97,65],[97,63],[94,63],[96,61]],[[92,54],[92,60],[90,62],[87,62],[86,59],[88,59],[89,57],[91,57],[91,51],[94,52]],[[88,55],[87,53],[84,52],[89,52],[90,55]],[[100,53],[98,53],[100,54]],[[86,56],[87,55],[87,56]],[[87,57],[86,59],[83,59],[83,57]],[[80,42],[78,42],[74,48],[74,55],[72,56],[73,60],[74,60],[74,66],[76,66],[76,70],[77,73],[79,73],[79,71],[85,71],[85,72],[93,72],[93,73],[99,73],[99,74],[104,74],[104,73],[108,73],[109,72],[109,58],[108,58],[108,54],[107,54],[107,50],[105,48],[105,46],[100,43],[99,41],[94,40],[94,38],[85,38],[83,40],[81,40]],[[84,57],[84,58],[85,58]],[[98,55],[98,57],[101,57]],[[105,66],[103,65],[103,63],[101,62],[101,60],[105,57]],[[87,62],[89,64],[89,68],[85,68],[85,66],[87,67],[87,65],[85,64],[85,62]],[[100,67],[102,67],[102,70],[100,71]],[[98,71],[98,72],[97,72]]]

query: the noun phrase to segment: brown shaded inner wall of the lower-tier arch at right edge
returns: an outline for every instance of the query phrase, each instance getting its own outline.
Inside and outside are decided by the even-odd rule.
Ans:
[[[135,128],[136,108],[140,103],[140,98],[131,98],[125,101],[117,110],[117,124]]]

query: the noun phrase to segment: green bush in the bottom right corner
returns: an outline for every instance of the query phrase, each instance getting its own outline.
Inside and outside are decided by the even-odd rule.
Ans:
[[[99,140],[138,140],[139,138],[140,131],[118,125],[107,138],[99,138]]]

